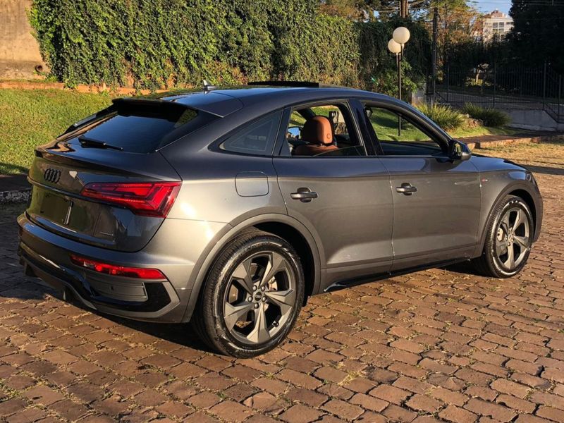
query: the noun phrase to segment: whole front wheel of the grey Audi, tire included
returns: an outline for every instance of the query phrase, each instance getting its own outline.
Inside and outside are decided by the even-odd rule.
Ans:
[[[521,219],[522,223],[515,228],[517,220]],[[533,218],[527,203],[515,195],[503,197],[494,207],[486,230],[484,250],[472,261],[474,268],[480,274],[494,278],[510,278],[518,274],[527,264],[534,235]]]

